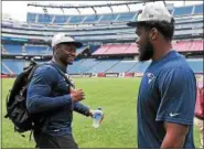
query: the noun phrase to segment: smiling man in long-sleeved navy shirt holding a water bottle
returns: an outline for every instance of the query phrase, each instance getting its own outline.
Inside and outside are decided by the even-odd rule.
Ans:
[[[73,110],[93,116],[93,110],[78,103],[85,98],[83,89],[72,89],[58,72],[66,73],[67,65],[73,64],[76,56],[76,47],[80,46],[82,43],[64,33],[54,35],[52,65],[39,66],[33,74],[26,108],[30,114],[43,118],[41,128],[34,130],[36,148],[78,148],[72,135]]]

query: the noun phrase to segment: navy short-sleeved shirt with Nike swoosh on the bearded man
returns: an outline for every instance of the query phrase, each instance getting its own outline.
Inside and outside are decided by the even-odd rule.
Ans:
[[[165,136],[163,122],[190,126],[183,148],[194,148],[195,99],[195,76],[182,55],[170,51],[152,61],[138,96],[138,148],[160,148]]]

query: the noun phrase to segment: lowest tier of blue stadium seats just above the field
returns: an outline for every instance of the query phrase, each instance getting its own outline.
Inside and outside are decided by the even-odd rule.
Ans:
[[[187,58],[189,65],[194,73],[203,73],[202,58]],[[28,61],[19,60],[2,60],[3,74],[19,74],[28,64]],[[43,62],[37,62],[43,63]],[[73,65],[67,67],[69,74],[86,74],[86,73],[143,73],[150,65],[148,62],[138,61],[124,61],[124,60],[96,60],[96,58],[82,58],[75,61]]]

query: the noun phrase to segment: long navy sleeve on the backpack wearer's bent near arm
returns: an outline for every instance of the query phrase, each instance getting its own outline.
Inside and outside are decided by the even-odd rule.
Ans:
[[[36,68],[28,87],[26,108],[30,113],[42,113],[71,104],[71,96],[52,97],[52,86],[57,83],[57,71],[52,66]]]

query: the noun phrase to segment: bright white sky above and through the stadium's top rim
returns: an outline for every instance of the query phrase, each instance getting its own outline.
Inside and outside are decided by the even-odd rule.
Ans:
[[[2,1],[2,13],[9,14],[12,19],[25,22],[26,21],[26,12],[39,12],[43,13],[42,8],[34,8],[34,7],[28,7],[29,2],[37,2],[37,3],[43,3],[43,4],[73,4],[73,6],[78,6],[78,4],[99,4],[99,3],[118,3],[118,2],[124,2],[124,1]],[[174,6],[183,6],[183,1],[167,1],[167,3],[174,3]],[[195,4],[195,3],[203,3],[203,1],[185,1],[186,6],[190,4]],[[11,7],[12,6],[12,7]],[[14,7],[13,7],[14,6]],[[137,10],[136,6],[130,6],[130,10]],[[127,7],[114,7],[115,12],[120,12],[120,11],[128,11]],[[47,9],[49,13],[51,14],[63,14],[61,9]],[[98,13],[103,12],[111,12],[109,8],[98,8],[97,9]],[[65,14],[78,14],[77,10],[75,9],[69,9],[69,10],[64,10]],[[82,14],[88,14],[88,13],[94,13],[92,9],[82,9]]]

